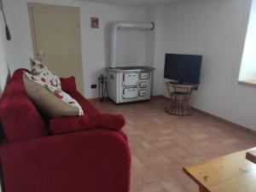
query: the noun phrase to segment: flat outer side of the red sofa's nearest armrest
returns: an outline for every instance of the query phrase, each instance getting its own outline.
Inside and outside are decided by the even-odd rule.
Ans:
[[[131,152],[114,131],[90,130],[1,147],[5,192],[128,192]]]

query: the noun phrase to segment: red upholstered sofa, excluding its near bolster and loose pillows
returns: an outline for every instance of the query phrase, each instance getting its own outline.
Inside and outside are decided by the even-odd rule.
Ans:
[[[15,71],[0,101],[4,191],[128,192],[131,152],[125,133],[91,129],[51,135],[49,119],[26,96],[24,70]],[[100,113],[76,89],[68,94],[85,113]]]

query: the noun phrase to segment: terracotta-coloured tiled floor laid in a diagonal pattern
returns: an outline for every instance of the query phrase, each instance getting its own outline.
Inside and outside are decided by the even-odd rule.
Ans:
[[[95,102],[102,112],[123,113],[132,151],[131,192],[197,192],[182,167],[256,146],[256,135],[201,113],[164,112],[166,100],[122,105]]]

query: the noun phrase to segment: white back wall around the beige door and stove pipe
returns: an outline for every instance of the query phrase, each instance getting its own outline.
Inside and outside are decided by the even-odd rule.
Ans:
[[[29,0],[3,0],[7,20],[13,35],[13,41],[7,48],[7,58],[11,72],[18,67],[29,67],[28,57],[33,55],[31,30],[27,12]],[[29,2],[55,3],[80,8],[82,55],[84,67],[84,96],[96,97],[97,90],[91,90],[90,84],[97,84],[98,76],[109,63],[109,26],[113,21],[148,21],[146,8],[122,7],[100,3],[79,2],[73,0],[32,0]],[[100,20],[99,29],[90,28],[90,17]],[[119,65],[140,65],[147,61],[148,32],[119,32]]]

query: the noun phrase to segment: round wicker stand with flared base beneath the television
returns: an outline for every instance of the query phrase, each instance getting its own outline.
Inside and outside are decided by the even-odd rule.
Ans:
[[[194,84],[177,84],[176,81],[166,82],[166,89],[170,96],[170,103],[166,107],[166,113],[176,115],[191,115],[189,106],[189,98],[193,90],[197,90],[198,86]]]

